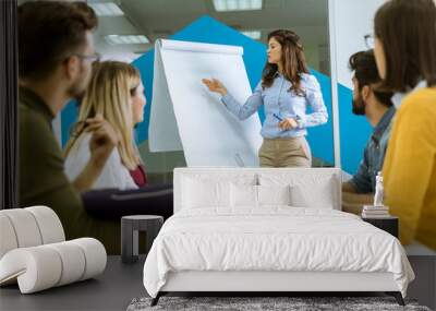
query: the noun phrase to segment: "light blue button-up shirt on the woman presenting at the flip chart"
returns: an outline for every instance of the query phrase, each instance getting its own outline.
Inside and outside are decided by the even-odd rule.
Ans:
[[[277,74],[270,87],[263,89],[261,81],[244,105],[238,103],[229,93],[221,97],[221,101],[240,120],[249,118],[264,105],[265,121],[261,134],[265,139],[303,136],[307,134],[306,128],[326,123],[328,113],[316,77],[305,73],[301,77],[301,88],[305,96],[299,96],[293,91],[289,92],[292,83],[282,74]],[[313,111],[308,115],[306,115],[307,105]],[[278,125],[280,121],[274,113],[280,118],[296,119],[299,127],[281,130]]]

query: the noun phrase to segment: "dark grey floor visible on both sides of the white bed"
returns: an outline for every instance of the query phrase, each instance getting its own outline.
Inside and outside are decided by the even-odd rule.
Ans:
[[[32,295],[21,295],[17,286],[0,288],[0,310],[125,310],[133,298],[147,296],[142,280],[144,261],[145,256],[128,265],[120,256],[109,256],[105,273],[95,279]],[[435,309],[436,259],[409,256],[409,261],[416,279],[408,297]]]

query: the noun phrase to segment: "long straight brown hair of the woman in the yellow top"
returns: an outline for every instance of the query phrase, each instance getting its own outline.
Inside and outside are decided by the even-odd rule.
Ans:
[[[385,51],[380,89],[407,92],[420,80],[436,85],[436,5],[433,0],[392,0],[374,19]]]

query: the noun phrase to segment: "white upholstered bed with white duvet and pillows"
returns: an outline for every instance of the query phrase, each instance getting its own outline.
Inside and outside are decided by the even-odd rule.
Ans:
[[[386,291],[403,303],[403,249],[340,212],[340,169],[177,168],[173,186],[174,215],[144,265],[152,304],[174,291]]]

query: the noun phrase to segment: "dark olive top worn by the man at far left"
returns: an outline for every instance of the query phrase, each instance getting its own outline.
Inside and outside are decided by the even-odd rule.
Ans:
[[[19,95],[20,206],[49,206],[58,214],[66,239],[93,237],[109,254],[120,253],[120,222],[90,217],[63,171],[51,128],[53,113],[31,89],[21,87]]]

